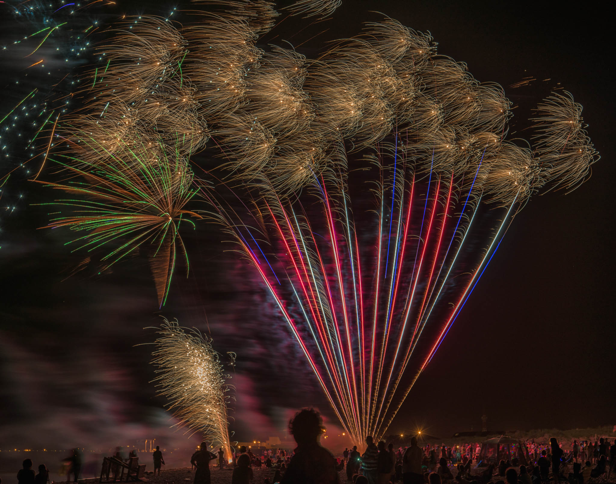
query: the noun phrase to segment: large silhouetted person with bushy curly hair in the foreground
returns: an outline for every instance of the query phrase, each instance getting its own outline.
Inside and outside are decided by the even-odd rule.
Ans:
[[[304,408],[289,422],[289,430],[297,442],[282,484],[338,484],[336,459],[319,441],[323,421],[314,409]]]

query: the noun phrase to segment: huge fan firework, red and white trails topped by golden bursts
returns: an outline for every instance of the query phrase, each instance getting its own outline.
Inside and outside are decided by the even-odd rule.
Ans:
[[[193,214],[183,208],[195,193],[187,170],[172,182],[177,160],[211,136],[255,209],[233,211],[195,184],[256,266],[349,434],[358,443],[381,435],[516,212],[544,185],[576,187],[596,161],[581,107],[567,93],[551,95],[538,106],[529,148],[505,139],[511,103],[500,86],[479,83],[466,65],[437,55],[430,36],[391,18],[308,60],[256,46],[276,15],[269,2],[203,2],[224,9],[179,28],[142,19],[101,47],[90,97],[73,116],[79,129],[65,130],[78,153],[65,164],[86,179],[71,190],[107,200],[100,187],[115,190],[107,183],[127,176],[119,172],[132,179],[140,159],[137,179],[169,187],[164,211],[146,204],[156,233],[167,234]],[[325,15],[337,3],[291,8]],[[144,177],[145,166],[156,175]],[[125,200],[113,205],[141,213]],[[135,230],[131,217],[123,225],[105,204],[84,204],[95,222],[55,224],[94,228],[91,247]]]

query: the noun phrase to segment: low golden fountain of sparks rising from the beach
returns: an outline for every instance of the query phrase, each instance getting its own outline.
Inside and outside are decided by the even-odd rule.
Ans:
[[[227,402],[232,389],[227,384],[219,355],[211,340],[197,329],[182,328],[177,321],[164,320],[156,331],[152,364],[158,376],[153,380],[167,407],[185,433],[201,434],[212,446],[224,446],[231,462]]]

